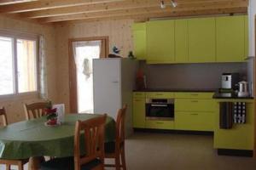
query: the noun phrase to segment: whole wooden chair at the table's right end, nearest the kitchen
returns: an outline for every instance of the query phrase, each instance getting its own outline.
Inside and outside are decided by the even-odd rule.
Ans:
[[[119,109],[116,120],[115,141],[105,144],[105,158],[113,158],[115,164],[105,164],[105,167],[116,167],[119,170],[121,167],[126,170],[125,164],[125,112],[127,105]],[[121,163],[120,163],[121,157]]]

